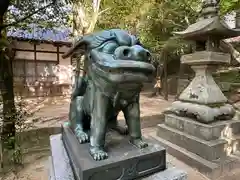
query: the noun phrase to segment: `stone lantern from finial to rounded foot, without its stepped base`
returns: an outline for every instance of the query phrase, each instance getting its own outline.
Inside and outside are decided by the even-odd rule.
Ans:
[[[205,1],[199,20],[176,34],[196,42],[196,52],[181,58],[195,71],[195,77],[180,94],[180,101],[173,103],[172,111],[202,123],[232,119],[234,109],[215,83],[212,71],[217,65],[230,63],[230,54],[220,52],[220,40],[238,36],[239,31],[220,19],[217,1]]]

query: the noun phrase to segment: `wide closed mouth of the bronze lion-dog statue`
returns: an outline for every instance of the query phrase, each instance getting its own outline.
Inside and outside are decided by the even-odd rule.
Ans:
[[[120,60],[111,54],[92,50],[92,70],[98,76],[111,82],[148,82],[153,79],[152,64],[136,60]]]

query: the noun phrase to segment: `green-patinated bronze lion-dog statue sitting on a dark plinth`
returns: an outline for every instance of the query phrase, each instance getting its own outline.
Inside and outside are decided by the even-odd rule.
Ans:
[[[151,54],[139,40],[121,29],[81,37],[63,58],[85,55],[86,74],[77,77],[70,105],[70,126],[80,143],[90,141],[94,160],[108,157],[104,150],[108,127],[128,133],[138,148],[147,147],[140,126],[139,93],[155,72]],[[127,130],[117,123],[122,111]]]

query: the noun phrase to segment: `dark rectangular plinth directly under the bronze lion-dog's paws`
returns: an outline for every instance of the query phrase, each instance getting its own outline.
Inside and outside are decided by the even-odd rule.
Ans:
[[[139,149],[129,143],[128,137],[108,132],[109,157],[95,161],[89,154],[89,144],[79,144],[70,128],[63,128],[62,139],[77,180],[134,179],[166,168],[165,149],[151,141],[148,147]]]

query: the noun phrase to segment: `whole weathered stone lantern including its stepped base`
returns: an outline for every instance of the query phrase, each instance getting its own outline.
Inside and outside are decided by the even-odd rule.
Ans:
[[[197,22],[176,32],[195,42],[195,52],[181,58],[181,63],[195,71],[195,77],[166,111],[165,122],[158,125],[157,132],[168,152],[210,179],[226,173],[222,165],[231,169],[240,165],[238,158],[229,156],[240,150],[240,121],[232,119],[234,108],[212,77],[213,70],[231,59],[230,54],[220,52],[220,40],[239,36],[240,31],[221,20],[218,4],[216,0],[204,1]]]

